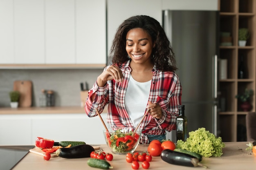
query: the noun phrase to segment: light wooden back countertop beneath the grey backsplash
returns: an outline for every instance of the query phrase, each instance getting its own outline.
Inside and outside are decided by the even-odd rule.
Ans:
[[[108,112],[108,107],[106,106],[103,113]],[[28,108],[10,108],[4,107],[0,108],[0,115],[6,114],[63,114],[63,113],[85,113],[83,107],[80,106],[61,106],[61,107],[28,107]]]

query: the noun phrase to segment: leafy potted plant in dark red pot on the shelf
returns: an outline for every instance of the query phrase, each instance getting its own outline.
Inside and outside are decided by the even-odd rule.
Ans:
[[[252,105],[249,102],[250,97],[252,97],[252,95],[253,95],[253,90],[247,89],[247,88],[245,89],[245,92],[243,94],[236,95],[236,98],[241,102],[240,107],[245,112],[251,110],[252,108]]]

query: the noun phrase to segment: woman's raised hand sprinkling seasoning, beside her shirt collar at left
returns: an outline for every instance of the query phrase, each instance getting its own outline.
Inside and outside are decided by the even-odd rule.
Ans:
[[[104,87],[108,80],[115,79],[116,82],[123,82],[124,76],[119,67],[115,65],[109,66],[105,71],[97,78],[97,84],[99,87]]]

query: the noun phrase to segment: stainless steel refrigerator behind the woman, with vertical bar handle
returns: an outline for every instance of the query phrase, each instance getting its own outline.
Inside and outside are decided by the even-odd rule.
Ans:
[[[218,126],[218,11],[163,11],[163,27],[173,46],[182,84],[188,132]]]

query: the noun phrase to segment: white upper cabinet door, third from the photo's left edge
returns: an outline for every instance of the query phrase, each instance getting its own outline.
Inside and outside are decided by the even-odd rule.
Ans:
[[[45,0],[45,63],[75,64],[74,0]]]

